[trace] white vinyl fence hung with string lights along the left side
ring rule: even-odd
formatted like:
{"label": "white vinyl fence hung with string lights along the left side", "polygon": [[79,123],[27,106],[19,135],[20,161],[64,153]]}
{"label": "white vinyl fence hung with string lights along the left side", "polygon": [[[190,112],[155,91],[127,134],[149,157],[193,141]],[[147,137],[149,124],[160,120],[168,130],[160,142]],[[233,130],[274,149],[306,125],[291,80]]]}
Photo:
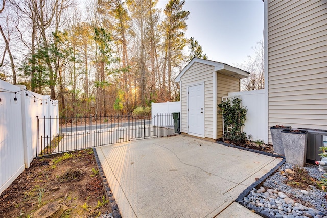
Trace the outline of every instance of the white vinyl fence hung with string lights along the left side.
{"label": "white vinyl fence hung with string lights along the left side", "polygon": [[[36,155],[36,116],[58,117],[58,101],[0,80],[0,193]],[[15,101],[16,100],[16,101]],[[35,102],[34,102],[35,101]],[[49,134],[49,125],[41,134]],[[51,124],[56,125],[56,124]],[[59,132],[59,124],[57,124]]]}

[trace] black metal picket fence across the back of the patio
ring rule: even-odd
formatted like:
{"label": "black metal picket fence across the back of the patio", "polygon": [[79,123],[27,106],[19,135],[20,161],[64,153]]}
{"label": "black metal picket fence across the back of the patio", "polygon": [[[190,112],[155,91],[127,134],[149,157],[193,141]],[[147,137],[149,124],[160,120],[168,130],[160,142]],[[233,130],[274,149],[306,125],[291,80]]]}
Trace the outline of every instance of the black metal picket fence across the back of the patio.
{"label": "black metal picket fence across the back of the patio", "polygon": [[148,118],[131,115],[37,117],[36,156],[177,135],[179,127],[175,123],[172,114]]}

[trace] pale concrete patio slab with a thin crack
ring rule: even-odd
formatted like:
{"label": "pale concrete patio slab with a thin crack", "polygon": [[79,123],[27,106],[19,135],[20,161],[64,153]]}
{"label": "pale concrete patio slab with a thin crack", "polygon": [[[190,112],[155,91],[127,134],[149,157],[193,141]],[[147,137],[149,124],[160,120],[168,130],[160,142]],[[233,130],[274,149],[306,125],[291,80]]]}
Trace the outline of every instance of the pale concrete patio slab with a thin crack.
{"label": "pale concrete patio slab with a thin crack", "polygon": [[182,135],[96,150],[122,217],[260,217],[234,201],[282,161]]}

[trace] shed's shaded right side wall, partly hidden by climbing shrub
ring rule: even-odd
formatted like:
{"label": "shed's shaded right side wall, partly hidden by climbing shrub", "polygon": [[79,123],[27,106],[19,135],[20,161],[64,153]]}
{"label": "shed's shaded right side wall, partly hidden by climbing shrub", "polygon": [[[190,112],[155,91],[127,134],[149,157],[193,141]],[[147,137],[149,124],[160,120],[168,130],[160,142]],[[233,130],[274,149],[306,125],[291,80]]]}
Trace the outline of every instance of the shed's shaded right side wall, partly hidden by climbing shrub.
{"label": "shed's shaded right side wall, partly hidden by climbing shrub", "polygon": [[[228,96],[228,92],[240,91],[240,79],[230,77],[217,72],[217,107],[221,103],[221,98]],[[218,138],[223,136],[223,119],[217,110],[217,131]]]}

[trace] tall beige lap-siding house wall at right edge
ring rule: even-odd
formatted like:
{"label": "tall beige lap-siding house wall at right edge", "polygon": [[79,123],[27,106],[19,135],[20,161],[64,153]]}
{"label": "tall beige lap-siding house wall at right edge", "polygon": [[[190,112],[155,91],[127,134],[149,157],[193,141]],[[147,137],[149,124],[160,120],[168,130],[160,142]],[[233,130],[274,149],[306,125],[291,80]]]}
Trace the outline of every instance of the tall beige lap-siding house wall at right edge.
{"label": "tall beige lap-siding house wall at right edge", "polygon": [[268,126],[276,124],[327,129],[325,0],[268,1]]}

